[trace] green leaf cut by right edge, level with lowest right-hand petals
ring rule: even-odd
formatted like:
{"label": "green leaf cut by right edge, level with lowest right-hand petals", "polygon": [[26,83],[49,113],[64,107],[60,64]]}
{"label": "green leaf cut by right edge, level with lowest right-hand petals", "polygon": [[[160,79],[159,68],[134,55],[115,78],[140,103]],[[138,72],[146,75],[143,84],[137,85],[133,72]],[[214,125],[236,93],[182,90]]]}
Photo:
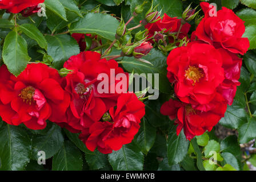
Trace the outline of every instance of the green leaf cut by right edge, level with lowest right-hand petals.
{"label": "green leaf cut by right edge, level with lowest right-hand petals", "polygon": [[247,143],[250,140],[256,138],[256,119],[250,118],[249,122],[243,124],[238,129],[239,143]]}

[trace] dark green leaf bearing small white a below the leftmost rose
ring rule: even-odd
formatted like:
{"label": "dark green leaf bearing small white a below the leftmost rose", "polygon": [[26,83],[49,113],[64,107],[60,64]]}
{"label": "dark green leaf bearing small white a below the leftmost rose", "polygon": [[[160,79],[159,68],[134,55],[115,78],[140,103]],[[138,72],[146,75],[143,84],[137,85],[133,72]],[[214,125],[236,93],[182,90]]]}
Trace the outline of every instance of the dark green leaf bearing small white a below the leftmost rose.
{"label": "dark green leaf bearing small white a below the leftmost rose", "polygon": [[64,142],[61,127],[53,125],[45,135],[34,135],[32,137],[33,159],[38,158],[38,151],[44,151],[46,159],[55,155]]}

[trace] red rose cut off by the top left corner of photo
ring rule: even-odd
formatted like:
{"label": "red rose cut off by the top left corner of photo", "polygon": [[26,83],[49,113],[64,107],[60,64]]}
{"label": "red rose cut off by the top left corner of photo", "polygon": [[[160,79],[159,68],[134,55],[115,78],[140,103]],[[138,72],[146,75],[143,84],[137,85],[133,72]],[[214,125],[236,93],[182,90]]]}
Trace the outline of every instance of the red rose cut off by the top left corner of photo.
{"label": "red rose cut off by the top left corner of photo", "polygon": [[45,0],[1,0],[0,9],[7,9],[11,13],[19,13],[27,7],[38,6]]}

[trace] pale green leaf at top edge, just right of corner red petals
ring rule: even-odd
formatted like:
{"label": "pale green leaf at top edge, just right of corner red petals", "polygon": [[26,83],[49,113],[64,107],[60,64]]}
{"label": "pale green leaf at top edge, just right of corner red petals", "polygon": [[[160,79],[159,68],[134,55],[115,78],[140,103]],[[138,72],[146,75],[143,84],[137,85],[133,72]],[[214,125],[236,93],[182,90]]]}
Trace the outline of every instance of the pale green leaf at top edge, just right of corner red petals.
{"label": "pale green leaf at top edge, just right of corner red petals", "polygon": [[[59,0],[45,0],[44,3],[47,9],[49,9],[54,14],[61,17],[63,20],[67,21],[65,8],[62,5],[62,3],[59,2]],[[47,10],[46,10],[46,14],[47,14]]]}

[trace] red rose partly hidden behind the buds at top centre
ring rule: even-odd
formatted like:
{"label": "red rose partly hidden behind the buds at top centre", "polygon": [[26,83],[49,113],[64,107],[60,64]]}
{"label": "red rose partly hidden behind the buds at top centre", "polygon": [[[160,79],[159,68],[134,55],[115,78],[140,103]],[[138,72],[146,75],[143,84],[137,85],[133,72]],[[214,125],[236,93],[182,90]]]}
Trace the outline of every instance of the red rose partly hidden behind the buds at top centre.
{"label": "red rose partly hidden behind the buds at top centre", "polygon": [[[160,18],[160,17],[158,17],[158,18]],[[157,22],[148,23],[145,26],[145,28],[147,28],[147,30],[149,30],[149,33],[148,33],[149,38],[154,36],[155,32],[163,31],[167,35],[169,35],[168,33],[172,34],[174,32],[178,32],[179,27],[181,27],[181,19],[171,18],[167,14],[165,14],[163,16],[163,18],[159,19]],[[187,33],[189,32],[190,27],[191,26],[189,23],[183,24],[181,31],[179,32],[178,39],[182,40],[183,38],[187,37]],[[170,42],[173,42],[173,36],[169,36],[169,40],[170,40]],[[150,42],[154,43],[152,40],[150,40]]]}

